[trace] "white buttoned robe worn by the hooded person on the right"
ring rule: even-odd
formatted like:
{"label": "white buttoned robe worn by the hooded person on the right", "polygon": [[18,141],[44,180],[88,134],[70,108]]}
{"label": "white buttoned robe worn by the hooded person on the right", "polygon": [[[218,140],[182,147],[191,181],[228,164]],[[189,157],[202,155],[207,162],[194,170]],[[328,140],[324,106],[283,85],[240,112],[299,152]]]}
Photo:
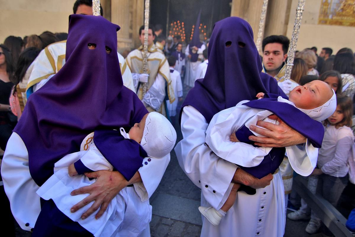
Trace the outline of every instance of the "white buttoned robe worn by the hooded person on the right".
{"label": "white buttoned robe worn by the hooded person on the right", "polygon": [[[182,139],[175,147],[179,165],[191,181],[201,188],[201,205],[220,209],[225,203],[237,166],[215,155],[205,144],[208,123],[192,106],[185,106],[181,117]],[[308,146],[307,141],[307,146]],[[296,146],[292,147],[298,151]],[[205,199],[211,200],[208,203]],[[280,172],[270,185],[256,194],[238,192],[232,208],[218,227],[203,217],[201,236],[281,237],[285,228],[284,189]]]}

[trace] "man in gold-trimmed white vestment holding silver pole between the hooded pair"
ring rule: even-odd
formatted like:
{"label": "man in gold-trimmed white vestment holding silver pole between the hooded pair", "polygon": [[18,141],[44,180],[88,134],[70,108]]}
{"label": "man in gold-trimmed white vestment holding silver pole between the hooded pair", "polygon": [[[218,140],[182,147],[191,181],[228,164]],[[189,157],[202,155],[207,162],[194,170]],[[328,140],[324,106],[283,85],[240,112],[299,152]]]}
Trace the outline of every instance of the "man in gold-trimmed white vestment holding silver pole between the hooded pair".
{"label": "man in gold-trimmed white vestment holding silver pole between the hooded pair", "polygon": [[[143,73],[143,44],[144,26],[139,29],[139,39],[142,45],[127,55],[126,64],[132,71],[133,84],[138,97],[149,112],[157,111],[166,115],[165,111],[165,85],[168,85],[170,103],[175,100],[174,90],[171,85],[169,64],[164,54],[160,53],[153,43],[155,39],[154,28],[148,28],[148,74]],[[143,83],[147,83],[147,92],[143,95]]]}

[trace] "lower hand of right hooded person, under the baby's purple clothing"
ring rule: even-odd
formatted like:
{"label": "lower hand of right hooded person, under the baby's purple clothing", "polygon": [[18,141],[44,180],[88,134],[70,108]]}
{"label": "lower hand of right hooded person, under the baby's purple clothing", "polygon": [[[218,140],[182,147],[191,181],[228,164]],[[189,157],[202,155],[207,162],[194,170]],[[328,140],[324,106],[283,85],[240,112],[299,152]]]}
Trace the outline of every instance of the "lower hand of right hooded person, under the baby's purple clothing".
{"label": "lower hand of right hooded person, under the baby's purple clothing", "polygon": [[267,185],[270,184],[272,179],[273,179],[272,174],[268,174],[267,176],[258,179],[252,176],[251,174],[245,172],[244,170],[237,168],[234,173],[232,182],[241,183],[256,189],[256,188],[265,188]]}

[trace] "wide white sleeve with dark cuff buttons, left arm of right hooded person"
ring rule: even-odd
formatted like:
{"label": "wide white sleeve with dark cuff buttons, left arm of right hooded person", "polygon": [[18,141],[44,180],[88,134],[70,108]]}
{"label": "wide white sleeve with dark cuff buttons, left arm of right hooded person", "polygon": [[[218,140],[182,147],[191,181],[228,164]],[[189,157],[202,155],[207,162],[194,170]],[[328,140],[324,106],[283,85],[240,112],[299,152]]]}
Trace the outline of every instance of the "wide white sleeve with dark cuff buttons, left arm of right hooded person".
{"label": "wide white sleeve with dark cuff buttons, left arm of right hooded person", "polygon": [[230,193],[237,166],[219,158],[206,145],[207,126],[197,109],[185,106],[181,117],[183,139],[176,145],[175,152],[182,170],[218,210]]}

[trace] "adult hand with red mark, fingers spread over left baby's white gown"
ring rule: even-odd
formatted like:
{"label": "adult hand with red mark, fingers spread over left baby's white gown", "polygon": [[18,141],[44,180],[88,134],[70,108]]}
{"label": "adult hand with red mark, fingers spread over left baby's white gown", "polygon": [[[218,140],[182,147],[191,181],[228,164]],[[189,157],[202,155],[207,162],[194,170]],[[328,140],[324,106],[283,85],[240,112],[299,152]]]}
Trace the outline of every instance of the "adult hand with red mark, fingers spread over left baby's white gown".
{"label": "adult hand with red mark, fingers spread over left baby's white gown", "polygon": [[79,203],[75,204],[71,208],[71,212],[76,212],[83,206],[91,203],[92,201],[95,201],[94,204],[81,216],[82,219],[86,219],[89,215],[93,214],[93,212],[97,211],[98,209],[100,210],[97,212],[95,218],[100,218],[108,208],[110,201],[123,188],[125,188],[127,185],[142,181],[138,171],[130,181],[126,181],[126,179],[118,171],[100,170],[96,172],[85,173],[85,176],[88,178],[97,178],[97,181],[89,186],[75,189],[71,192],[71,195],[85,193],[90,194]]}

